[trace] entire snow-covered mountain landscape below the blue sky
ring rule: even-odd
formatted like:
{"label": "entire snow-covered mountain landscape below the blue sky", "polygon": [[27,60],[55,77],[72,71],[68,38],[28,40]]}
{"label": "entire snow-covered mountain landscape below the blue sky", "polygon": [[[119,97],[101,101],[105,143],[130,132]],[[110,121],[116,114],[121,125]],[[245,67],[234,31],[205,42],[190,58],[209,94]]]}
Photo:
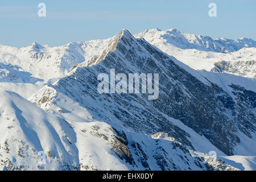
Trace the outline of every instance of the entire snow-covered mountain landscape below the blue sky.
{"label": "entire snow-covered mountain landscape below the blue sky", "polygon": [[[0,46],[0,169],[256,170],[255,46],[176,29]],[[98,93],[110,69],[158,73],[158,99]]]}

